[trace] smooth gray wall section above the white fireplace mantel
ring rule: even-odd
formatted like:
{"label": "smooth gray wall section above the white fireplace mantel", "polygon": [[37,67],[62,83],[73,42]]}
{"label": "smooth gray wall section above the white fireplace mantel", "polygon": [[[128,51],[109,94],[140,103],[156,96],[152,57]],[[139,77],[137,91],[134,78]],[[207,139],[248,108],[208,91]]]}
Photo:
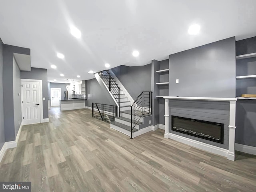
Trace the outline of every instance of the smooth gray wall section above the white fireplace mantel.
{"label": "smooth gray wall section above the white fireplace mantel", "polygon": [[235,54],[232,37],[170,55],[169,96],[234,98]]}

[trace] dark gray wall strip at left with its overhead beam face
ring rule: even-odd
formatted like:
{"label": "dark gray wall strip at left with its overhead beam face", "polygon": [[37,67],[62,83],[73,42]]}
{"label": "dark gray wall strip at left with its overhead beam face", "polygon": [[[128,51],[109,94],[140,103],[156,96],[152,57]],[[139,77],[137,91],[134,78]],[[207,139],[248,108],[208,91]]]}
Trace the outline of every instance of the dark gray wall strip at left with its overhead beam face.
{"label": "dark gray wall strip at left with its overhead beam face", "polygon": [[[30,55],[30,49],[3,44],[3,98],[5,141],[15,140],[14,94],[13,94],[13,54]],[[48,111],[47,111],[48,112]]]}

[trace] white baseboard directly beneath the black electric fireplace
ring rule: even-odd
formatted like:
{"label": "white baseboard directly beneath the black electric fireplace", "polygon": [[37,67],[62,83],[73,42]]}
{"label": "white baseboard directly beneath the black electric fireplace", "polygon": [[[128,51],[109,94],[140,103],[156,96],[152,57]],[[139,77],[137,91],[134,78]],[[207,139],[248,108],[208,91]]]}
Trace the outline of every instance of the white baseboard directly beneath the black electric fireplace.
{"label": "white baseboard directly beneath the black electric fireplace", "polygon": [[216,146],[212,146],[200,141],[196,141],[196,140],[192,140],[186,137],[182,137],[176,134],[172,134],[172,133],[168,133],[168,138],[176,140],[178,142],[182,142],[184,144],[214,153],[214,154],[218,154],[224,157],[228,157],[228,150],[227,149],[223,149],[220,147],[216,147]]}

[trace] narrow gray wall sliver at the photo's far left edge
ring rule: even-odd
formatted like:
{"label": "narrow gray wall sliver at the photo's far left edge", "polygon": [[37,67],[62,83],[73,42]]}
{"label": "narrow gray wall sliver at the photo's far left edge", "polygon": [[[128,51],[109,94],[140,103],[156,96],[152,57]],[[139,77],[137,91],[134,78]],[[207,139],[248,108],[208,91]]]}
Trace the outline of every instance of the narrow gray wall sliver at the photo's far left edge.
{"label": "narrow gray wall sliver at the photo's far left edge", "polygon": [[5,142],[4,137],[4,98],[3,98],[3,42],[0,38],[0,150]]}

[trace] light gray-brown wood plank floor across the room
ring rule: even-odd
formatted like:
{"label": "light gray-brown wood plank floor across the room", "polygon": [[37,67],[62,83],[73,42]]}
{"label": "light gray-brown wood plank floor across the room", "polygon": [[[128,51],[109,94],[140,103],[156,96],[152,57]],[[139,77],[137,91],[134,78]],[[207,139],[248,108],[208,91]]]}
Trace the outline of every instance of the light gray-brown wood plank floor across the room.
{"label": "light gray-brown wood plank floor across the room", "polygon": [[31,181],[33,192],[255,192],[256,156],[232,162],[164,138],[132,140],[88,109],[52,108],[49,123],[23,126],[0,164],[0,181]]}

